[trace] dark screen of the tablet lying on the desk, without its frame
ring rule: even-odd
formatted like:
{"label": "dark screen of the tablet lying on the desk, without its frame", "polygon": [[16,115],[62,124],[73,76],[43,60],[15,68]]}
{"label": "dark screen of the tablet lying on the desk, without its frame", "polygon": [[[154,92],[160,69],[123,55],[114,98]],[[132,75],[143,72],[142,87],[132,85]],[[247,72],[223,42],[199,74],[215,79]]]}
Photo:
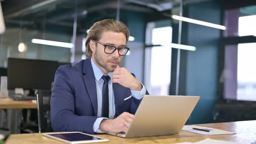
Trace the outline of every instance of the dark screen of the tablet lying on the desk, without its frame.
{"label": "dark screen of the tablet lying on the desk, without its frame", "polygon": [[66,141],[89,141],[89,140],[103,140],[100,137],[93,137],[82,133],[62,133],[62,134],[48,134],[53,137],[58,137]]}

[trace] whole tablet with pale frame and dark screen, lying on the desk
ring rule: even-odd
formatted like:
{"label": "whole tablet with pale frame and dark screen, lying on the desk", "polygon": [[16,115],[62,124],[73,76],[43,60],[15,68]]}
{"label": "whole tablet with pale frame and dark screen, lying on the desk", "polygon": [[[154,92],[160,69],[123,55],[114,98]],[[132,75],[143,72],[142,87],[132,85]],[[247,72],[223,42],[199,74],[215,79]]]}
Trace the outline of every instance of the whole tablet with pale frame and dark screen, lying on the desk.
{"label": "whole tablet with pale frame and dark screen, lying on the desk", "polygon": [[81,144],[81,143],[92,143],[92,142],[103,142],[109,141],[102,137],[96,137],[90,134],[82,132],[58,132],[58,133],[45,133],[42,134],[45,137],[50,137],[58,141],[62,141],[68,144]]}

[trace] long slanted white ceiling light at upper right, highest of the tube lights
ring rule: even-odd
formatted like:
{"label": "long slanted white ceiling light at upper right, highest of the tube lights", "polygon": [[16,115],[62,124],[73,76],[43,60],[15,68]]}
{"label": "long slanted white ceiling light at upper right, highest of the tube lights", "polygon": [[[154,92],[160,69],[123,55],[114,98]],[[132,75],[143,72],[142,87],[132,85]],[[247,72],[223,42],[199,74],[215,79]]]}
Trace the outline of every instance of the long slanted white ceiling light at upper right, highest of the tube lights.
{"label": "long slanted white ceiling light at upper right, highest of the tube lights", "polygon": [[194,19],[190,19],[190,18],[187,18],[187,17],[176,16],[176,15],[172,15],[171,17],[175,20],[181,20],[181,21],[185,21],[185,22],[188,22],[188,23],[195,23],[195,24],[199,24],[199,25],[203,25],[203,26],[213,27],[213,28],[216,28],[216,29],[223,29],[223,30],[226,29],[226,26],[221,26],[221,25],[218,25],[218,24],[208,23],[208,22],[204,22],[204,21],[200,21],[200,20],[194,20]]}

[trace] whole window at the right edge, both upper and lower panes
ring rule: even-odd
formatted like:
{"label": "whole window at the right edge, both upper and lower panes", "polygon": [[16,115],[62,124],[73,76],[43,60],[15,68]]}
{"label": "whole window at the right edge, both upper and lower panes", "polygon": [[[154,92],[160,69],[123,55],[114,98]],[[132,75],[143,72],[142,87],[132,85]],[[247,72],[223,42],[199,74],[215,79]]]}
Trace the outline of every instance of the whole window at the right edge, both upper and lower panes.
{"label": "whole window at the right edge, both upper and lower panes", "polygon": [[[232,17],[233,16],[233,17]],[[256,36],[255,6],[226,10],[227,37]],[[224,43],[225,45],[225,43]],[[256,41],[225,45],[224,99],[256,101]],[[223,79],[224,78],[224,79]]]}

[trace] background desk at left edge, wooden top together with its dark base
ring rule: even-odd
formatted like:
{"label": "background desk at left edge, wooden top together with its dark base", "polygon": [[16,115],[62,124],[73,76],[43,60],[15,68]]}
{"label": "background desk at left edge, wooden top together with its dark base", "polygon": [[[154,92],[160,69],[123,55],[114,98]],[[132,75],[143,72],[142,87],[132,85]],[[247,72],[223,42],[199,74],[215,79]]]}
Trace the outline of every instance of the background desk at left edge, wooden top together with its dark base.
{"label": "background desk at left edge, wooden top together with its dark base", "polygon": [[11,98],[0,99],[0,127],[9,128],[12,134],[20,133],[19,126],[22,109],[36,109],[36,103],[13,101]]}

